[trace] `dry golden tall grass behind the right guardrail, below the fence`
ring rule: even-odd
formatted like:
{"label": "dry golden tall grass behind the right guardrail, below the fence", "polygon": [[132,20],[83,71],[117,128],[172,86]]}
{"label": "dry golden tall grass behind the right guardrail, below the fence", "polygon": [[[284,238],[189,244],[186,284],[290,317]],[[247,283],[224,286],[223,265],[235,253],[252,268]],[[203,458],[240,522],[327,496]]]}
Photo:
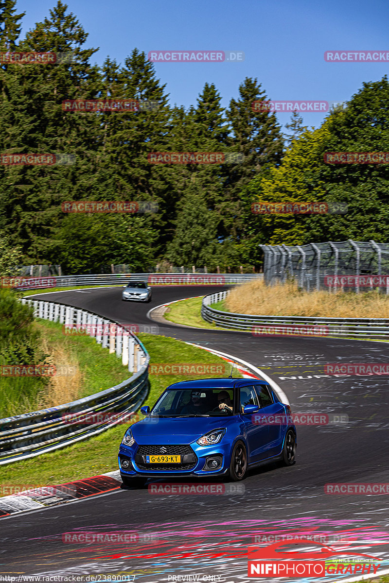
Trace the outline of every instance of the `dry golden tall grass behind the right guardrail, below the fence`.
{"label": "dry golden tall grass behind the right guardrail, below the fence", "polygon": [[376,290],[365,293],[300,291],[295,282],[265,286],[254,281],[232,290],[227,309],[240,314],[272,316],[324,316],[389,318],[389,296]]}

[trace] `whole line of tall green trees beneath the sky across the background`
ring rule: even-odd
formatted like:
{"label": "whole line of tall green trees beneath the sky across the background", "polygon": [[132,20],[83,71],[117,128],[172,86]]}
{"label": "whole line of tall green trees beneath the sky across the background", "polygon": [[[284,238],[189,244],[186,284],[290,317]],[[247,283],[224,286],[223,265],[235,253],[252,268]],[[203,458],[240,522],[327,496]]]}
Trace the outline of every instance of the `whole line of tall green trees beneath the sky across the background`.
{"label": "whole line of tall green trees beneath the sky across the background", "polygon": [[[169,261],[191,269],[261,265],[263,244],[387,241],[387,164],[326,164],[325,152],[384,151],[386,76],[364,83],[320,128],[296,113],[283,134],[257,78],[222,107],[213,83],[196,104],[171,106],[166,85],[134,48],[123,64],[92,65],[96,48],[61,1],[20,38],[16,0],[0,0],[0,52],[72,54],[58,63],[0,61],[0,154],[58,153],[71,163],[0,164],[0,230],[23,264],[61,264],[62,273],[111,264],[148,271]],[[120,113],[65,111],[68,100],[157,104]],[[222,152],[238,162],[155,164],[155,152]],[[4,159],[4,158],[3,158]],[[2,159],[2,160],[3,160]],[[230,156],[230,160],[232,157]],[[138,201],[157,212],[66,213],[66,201]],[[345,215],[255,215],[258,201],[344,202]]]}

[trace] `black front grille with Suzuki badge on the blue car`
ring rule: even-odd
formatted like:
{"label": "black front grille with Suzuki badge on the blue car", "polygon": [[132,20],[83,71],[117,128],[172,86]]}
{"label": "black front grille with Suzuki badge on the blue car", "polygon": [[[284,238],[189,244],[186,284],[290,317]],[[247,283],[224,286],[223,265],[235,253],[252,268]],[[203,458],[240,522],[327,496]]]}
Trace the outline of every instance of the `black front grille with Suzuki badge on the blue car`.
{"label": "black front grille with Suzuki badge on the blue car", "polygon": [[[160,451],[162,447],[166,451]],[[143,457],[146,455],[181,455],[182,463],[174,463],[171,465],[167,463],[146,463]],[[135,454],[135,463],[138,468],[151,472],[160,470],[176,470],[176,472],[190,471],[195,467],[197,462],[197,455],[190,445],[139,445]]]}

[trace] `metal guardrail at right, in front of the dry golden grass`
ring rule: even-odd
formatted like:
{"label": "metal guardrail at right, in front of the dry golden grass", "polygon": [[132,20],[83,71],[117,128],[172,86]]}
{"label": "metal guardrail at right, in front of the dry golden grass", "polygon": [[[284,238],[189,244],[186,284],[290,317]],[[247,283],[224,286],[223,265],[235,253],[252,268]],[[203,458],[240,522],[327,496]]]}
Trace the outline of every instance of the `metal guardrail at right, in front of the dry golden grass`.
{"label": "metal guardrail at right, in front of the dry golden grass", "polygon": [[[234,314],[215,310],[211,305],[225,300],[230,290],[205,296],[201,304],[201,316],[206,322],[212,322],[223,328],[232,328],[254,332],[255,326],[307,325],[328,326],[328,336],[345,336],[348,338],[367,338],[383,340],[389,338],[388,318],[307,318],[304,316],[262,316],[251,314]],[[271,332],[269,331],[269,335]],[[327,333],[325,334],[327,336]],[[312,334],[314,336],[314,334]]]}

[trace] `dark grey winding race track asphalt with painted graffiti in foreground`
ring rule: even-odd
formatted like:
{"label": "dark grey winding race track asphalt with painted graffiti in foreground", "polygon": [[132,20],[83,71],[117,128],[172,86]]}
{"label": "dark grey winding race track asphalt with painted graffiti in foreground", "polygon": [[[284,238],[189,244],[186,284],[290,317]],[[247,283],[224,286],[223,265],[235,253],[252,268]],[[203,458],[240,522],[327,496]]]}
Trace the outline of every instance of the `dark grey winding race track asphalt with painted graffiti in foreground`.
{"label": "dark grey winding race track asphalt with painted graffiti in foreground", "polygon": [[[155,287],[150,304],[121,301],[120,287],[40,297],[123,324],[150,325],[150,308],[219,289],[225,288]],[[120,489],[2,519],[0,573],[96,575],[95,581],[123,573],[140,583],[194,581],[198,575],[199,581],[238,583],[250,581],[247,546],[258,542],[255,536],[303,531],[356,539],[353,548],[383,559],[380,570],[388,568],[388,495],[324,493],[327,483],[389,482],[388,377],[334,377],[324,374],[324,364],[388,363],[389,346],[157,325],[160,334],[254,364],[288,395],[293,413],[347,415],[348,423],[297,427],[296,465],[273,463],[250,472],[243,494],[167,496]],[[62,542],[63,533],[80,531],[131,531],[153,540],[127,545]],[[331,580],[341,579],[326,575],[325,581]]]}

